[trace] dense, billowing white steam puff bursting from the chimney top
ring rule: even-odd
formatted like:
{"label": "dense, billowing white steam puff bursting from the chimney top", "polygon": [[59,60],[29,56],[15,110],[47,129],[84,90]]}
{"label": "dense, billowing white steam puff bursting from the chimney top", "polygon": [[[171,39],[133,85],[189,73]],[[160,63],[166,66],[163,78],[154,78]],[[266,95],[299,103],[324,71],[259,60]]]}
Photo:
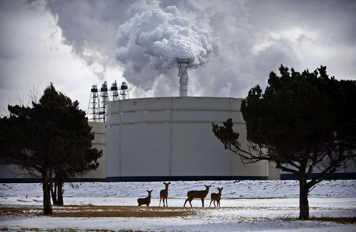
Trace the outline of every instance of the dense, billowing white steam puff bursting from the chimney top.
{"label": "dense, billowing white steam puff bursting from the chimney top", "polygon": [[158,73],[177,67],[177,57],[188,57],[192,68],[205,65],[211,54],[218,55],[219,44],[219,37],[180,16],[176,6],[167,6],[136,14],[119,26],[116,59],[124,64],[124,77],[132,79],[145,66]]}

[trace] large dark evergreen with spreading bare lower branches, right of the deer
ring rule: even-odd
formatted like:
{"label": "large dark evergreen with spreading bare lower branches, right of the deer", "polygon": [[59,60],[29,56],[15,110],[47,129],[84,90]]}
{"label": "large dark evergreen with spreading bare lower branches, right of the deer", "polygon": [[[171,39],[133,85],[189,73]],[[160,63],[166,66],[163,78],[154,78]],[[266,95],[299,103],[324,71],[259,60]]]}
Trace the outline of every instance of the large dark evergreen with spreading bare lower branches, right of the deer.
{"label": "large dark evergreen with spreading bare lower branches, right of the deer", "polygon": [[[247,148],[241,148],[232,119],[223,126],[213,124],[213,133],[244,163],[267,160],[297,175],[299,220],[308,220],[308,192],[356,157],[356,87],[352,81],[329,78],[325,66],[311,73],[288,70],[281,65],[280,77],[269,74],[265,93],[257,85],[242,100]],[[312,177],[315,168],[320,173]]]}

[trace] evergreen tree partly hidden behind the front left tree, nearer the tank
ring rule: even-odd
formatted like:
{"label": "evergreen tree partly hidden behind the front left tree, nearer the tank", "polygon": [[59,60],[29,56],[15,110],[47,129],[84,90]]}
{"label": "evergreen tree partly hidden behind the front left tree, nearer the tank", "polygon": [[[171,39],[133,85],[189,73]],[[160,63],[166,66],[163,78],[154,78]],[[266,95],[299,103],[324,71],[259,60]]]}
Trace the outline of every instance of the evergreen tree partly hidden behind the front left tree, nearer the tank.
{"label": "evergreen tree partly hidden behind the front left tree, nearer the tank", "polygon": [[52,190],[52,200],[57,205],[63,205],[64,181],[96,170],[99,166],[97,160],[103,151],[91,148],[94,132],[91,132],[85,112],[79,110],[78,101],[72,102],[64,94],[56,94],[56,91],[46,96],[49,101],[56,99],[56,104],[49,111],[56,115],[52,121],[61,131],[61,136],[54,138],[51,146],[51,153],[55,157],[52,180],[55,189],[57,187],[57,199],[56,190]]}

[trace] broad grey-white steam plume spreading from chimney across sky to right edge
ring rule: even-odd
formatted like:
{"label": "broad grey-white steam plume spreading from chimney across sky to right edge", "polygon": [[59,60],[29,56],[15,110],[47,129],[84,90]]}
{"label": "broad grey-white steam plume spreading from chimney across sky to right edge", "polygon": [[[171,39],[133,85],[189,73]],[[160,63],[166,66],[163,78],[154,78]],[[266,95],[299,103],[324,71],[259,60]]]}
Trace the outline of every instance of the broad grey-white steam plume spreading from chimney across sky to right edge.
{"label": "broad grey-white steam plume spreading from chimney across sky to right edge", "polygon": [[355,79],[354,1],[37,1],[75,57],[100,80],[123,73],[130,97],[177,96],[176,57],[190,58],[189,96],[244,98],[281,63]]}

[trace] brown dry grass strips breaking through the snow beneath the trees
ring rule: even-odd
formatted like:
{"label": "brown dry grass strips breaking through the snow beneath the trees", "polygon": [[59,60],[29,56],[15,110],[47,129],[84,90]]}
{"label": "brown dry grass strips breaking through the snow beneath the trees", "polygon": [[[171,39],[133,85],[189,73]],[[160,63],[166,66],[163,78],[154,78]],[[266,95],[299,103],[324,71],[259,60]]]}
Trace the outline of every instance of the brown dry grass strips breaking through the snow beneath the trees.
{"label": "brown dry grass strips breaking through the snow beneath the trees", "polygon": [[[246,207],[221,207],[225,210],[243,210]],[[220,208],[220,209],[221,209]],[[263,208],[263,207],[260,207]],[[215,210],[215,207],[146,207],[146,206],[87,206],[87,205],[71,205],[71,206],[54,206],[51,217],[187,217],[198,216],[203,211]],[[248,209],[259,210],[258,207],[250,207]],[[209,213],[208,213],[209,214]],[[33,206],[22,207],[0,207],[1,216],[29,216],[38,217],[44,216],[40,208]],[[240,216],[241,217],[241,216]],[[247,220],[247,219],[246,219]],[[265,218],[267,221],[295,221],[297,217],[292,217],[289,213],[282,217]],[[356,224],[356,217],[331,217],[325,215],[321,217],[310,217],[311,221],[336,222],[344,224]],[[33,229],[33,230],[32,230]],[[36,231],[32,228],[31,231]],[[0,231],[6,231],[6,228],[0,228]]]}

